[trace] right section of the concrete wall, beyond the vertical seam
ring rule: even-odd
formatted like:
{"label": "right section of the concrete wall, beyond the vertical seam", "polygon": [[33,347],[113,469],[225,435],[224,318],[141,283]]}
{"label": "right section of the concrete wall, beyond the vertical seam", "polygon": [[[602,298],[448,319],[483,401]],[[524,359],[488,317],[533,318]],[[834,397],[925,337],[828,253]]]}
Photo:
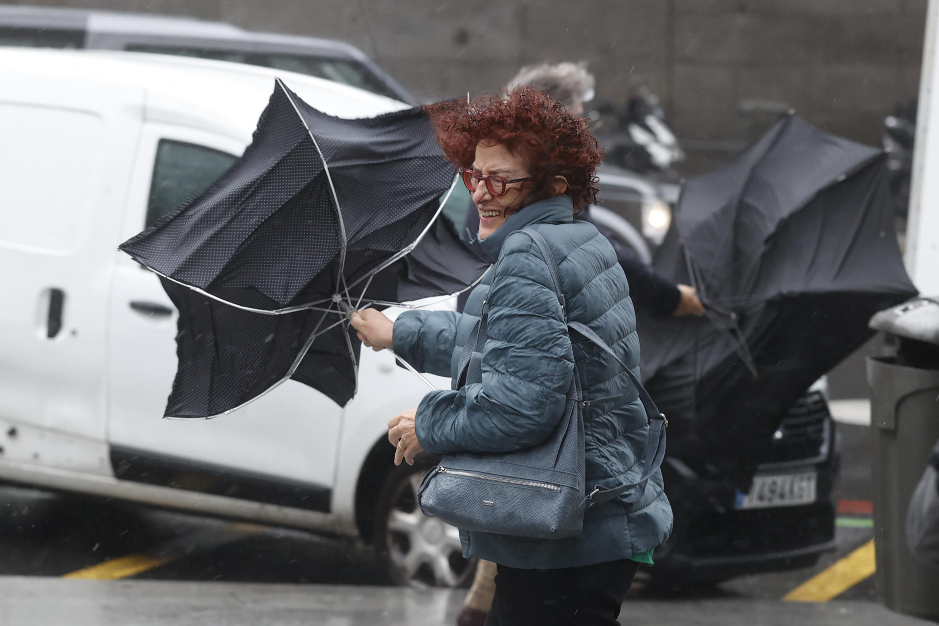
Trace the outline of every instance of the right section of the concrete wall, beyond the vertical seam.
{"label": "right section of the concrete wall, beyond the vertical seam", "polygon": [[[749,141],[785,102],[877,144],[896,102],[916,96],[926,0],[674,0],[672,122],[688,139]],[[757,105],[750,113],[747,104]],[[763,107],[771,109],[771,107]]]}

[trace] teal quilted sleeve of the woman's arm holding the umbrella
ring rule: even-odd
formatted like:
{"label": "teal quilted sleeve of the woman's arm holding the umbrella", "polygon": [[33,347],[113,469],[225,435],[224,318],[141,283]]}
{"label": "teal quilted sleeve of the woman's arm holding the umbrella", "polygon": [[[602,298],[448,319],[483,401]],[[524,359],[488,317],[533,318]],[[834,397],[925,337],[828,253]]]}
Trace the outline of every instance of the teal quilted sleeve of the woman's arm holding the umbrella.
{"label": "teal quilted sleeve of the woman's arm holding the umbrella", "polygon": [[407,311],[394,320],[394,353],[419,372],[450,376],[456,322],[452,311]]}

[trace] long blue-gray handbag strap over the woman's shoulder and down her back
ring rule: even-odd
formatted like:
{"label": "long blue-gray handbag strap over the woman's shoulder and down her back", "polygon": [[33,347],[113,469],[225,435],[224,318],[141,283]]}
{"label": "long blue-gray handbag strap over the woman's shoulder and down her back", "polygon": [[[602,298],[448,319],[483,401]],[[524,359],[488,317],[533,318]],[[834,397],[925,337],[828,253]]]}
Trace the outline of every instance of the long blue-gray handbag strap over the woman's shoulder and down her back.
{"label": "long blue-gray handbag strap over the woman's shoulder and down her back", "polygon": [[[632,504],[639,500],[645,493],[645,484],[652,478],[653,474],[662,466],[662,461],[665,458],[665,443],[666,435],[665,429],[669,425],[669,421],[665,419],[665,415],[658,410],[658,407],[655,406],[655,403],[652,401],[652,397],[649,395],[649,392],[642,387],[642,383],[639,382],[639,378],[636,377],[636,374],[633,374],[633,371],[629,369],[629,366],[623,362],[623,359],[620,359],[619,355],[609,347],[607,342],[603,341],[598,334],[596,334],[592,328],[588,327],[586,324],[580,322],[572,322],[567,319],[567,309],[566,303],[564,301],[564,294],[561,288],[561,276],[558,271],[558,264],[554,259],[554,253],[551,252],[550,246],[548,246],[545,237],[542,237],[541,233],[538,233],[534,230],[521,230],[517,231],[519,233],[524,233],[531,237],[531,240],[538,247],[539,252],[541,252],[542,257],[545,259],[547,269],[551,274],[551,280],[554,282],[555,293],[558,295],[558,300],[561,302],[561,311],[564,315],[564,320],[567,322],[567,328],[575,330],[577,333],[590,340],[594,344],[597,344],[602,350],[608,353],[613,359],[616,360],[620,365],[623,366],[626,374],[629,376],[629,380],[632,381],[633,385],[636,387],[636,390],[639,392],[639,400],[642,402],[642,406],[646,412],[646,419],[649,424],[649,438],[646,442],[645,455],[642,458],[642,474],[639,476],[639,481],[631,484],[623,484],[613,489],[605,489],[600,486],[596,486],[585,499],[584,505],[586,507],[591,507],[594,504],[599,502],[606,502],[611,500],[616,496],[631,490],[636,489],[637,487],[642,487],[639,489],[639,492],[635,496],[631,496],[626,500],[626,504]],[[485,308],[485,307],[484,307]],[[477,340],[479,335],[477,335]]]}

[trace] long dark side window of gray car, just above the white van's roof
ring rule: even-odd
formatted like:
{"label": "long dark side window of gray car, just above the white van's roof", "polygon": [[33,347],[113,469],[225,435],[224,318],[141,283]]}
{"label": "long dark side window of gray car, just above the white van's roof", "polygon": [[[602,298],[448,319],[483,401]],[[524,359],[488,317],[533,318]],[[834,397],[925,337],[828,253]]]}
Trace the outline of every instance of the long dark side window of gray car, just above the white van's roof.
{"label": "long dark side window of gray car, just above the white van's roof", "polygon": [[316,76],[316,78],[325,78],[334,83],[350,84],[353,87],[359,87],[360,89],[371,91],[380,96],[401,99],[389,85],[384,84],[371,70],[362,65],[362,63],[352,59],[315,56],[311,54],[246,52],[241,50],[187,48],[152,44],[128,44],[125,50],[132,53],[194,56],[197,58],[215,59],[217,61],[245,63],[247,65],[261,66],[262,68],[285,69],[287,71],[296,71],[300,74]]}

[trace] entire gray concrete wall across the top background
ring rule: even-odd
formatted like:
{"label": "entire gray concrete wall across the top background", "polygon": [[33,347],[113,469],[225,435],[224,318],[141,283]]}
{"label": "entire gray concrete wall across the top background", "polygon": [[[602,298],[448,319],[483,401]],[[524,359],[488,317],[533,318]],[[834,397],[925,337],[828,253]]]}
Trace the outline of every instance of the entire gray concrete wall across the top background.
{"label": "entire gray concrete wall across the top background", "polygon": [[[343,38],[421,96],[494,90],[527,63],[589,61],[600,99],[647,85],[698,154],[748,141],[780,103],[875,144],[916,95],[927,0],[28,0]],[[750,105],[749,111],[742,110]],[[703,158],[703,159],[702,159]]]}

